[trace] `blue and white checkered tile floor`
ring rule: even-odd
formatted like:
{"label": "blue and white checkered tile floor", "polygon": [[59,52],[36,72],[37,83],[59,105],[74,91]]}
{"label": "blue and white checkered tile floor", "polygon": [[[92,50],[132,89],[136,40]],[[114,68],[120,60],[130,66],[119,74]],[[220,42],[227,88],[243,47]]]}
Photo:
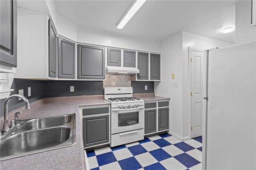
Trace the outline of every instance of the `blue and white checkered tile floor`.
{"label": "blue and white checkered tile floor", "polygon": [[165,133],[86,154],[92,170],[202,170],[202,137],[182,142]]}

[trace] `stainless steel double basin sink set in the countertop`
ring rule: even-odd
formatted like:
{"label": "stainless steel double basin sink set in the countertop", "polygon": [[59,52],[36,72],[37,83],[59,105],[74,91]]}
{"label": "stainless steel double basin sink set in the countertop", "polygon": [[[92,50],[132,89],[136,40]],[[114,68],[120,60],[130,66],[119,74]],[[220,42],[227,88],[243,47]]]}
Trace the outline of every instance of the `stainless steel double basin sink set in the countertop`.
{"label": "stainless steel double basin sink set in the countertop", "polygon": [[0,160],[69,147],[76,143],[76,114],[20,119],[0,139]]}

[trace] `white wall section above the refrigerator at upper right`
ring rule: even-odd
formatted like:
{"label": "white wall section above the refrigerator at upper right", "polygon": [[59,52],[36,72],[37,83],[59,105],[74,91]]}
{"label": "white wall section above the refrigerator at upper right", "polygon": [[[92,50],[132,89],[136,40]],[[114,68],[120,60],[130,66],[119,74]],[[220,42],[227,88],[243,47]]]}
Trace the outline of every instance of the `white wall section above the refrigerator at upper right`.
{"label": "white wall section above the refrigerator at upper right", "polygon": [[251,1],[236,4],[236,44],[256,40],[256,27],[251,24]]}

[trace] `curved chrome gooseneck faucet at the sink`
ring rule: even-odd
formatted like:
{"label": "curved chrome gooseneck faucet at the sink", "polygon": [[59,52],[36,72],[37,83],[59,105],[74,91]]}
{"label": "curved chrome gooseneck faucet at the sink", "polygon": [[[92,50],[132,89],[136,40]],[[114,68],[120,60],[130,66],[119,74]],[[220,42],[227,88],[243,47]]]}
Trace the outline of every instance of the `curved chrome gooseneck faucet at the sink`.
{"label": "curved chrome gooseneck faucet at the sink", "polygon": [[10,127],[8,125],[8,103],[9,103],[10,99],[13,97],[21,98],[26,104],[25,109],[30,109],[30,104],[28,102],[28,99],[25,98],[24,96],[21,96],[19,94],[14,94],[14,95],[8,97],[4,102],[4,125],[3,125],[3,129],[1,131],[2,133],[6,133],[10,130]]}

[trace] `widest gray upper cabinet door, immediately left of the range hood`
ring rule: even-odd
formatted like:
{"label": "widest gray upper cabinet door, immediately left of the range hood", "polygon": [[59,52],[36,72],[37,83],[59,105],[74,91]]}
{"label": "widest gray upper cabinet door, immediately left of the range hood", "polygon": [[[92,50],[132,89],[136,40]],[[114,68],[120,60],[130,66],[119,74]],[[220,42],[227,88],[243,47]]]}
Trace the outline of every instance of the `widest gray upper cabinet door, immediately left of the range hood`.
{"label": "widest gray upper cabinet door, immediately left of the range hood", "polygon": [[78,78],[105,78],[105,48],[78,44]]}

